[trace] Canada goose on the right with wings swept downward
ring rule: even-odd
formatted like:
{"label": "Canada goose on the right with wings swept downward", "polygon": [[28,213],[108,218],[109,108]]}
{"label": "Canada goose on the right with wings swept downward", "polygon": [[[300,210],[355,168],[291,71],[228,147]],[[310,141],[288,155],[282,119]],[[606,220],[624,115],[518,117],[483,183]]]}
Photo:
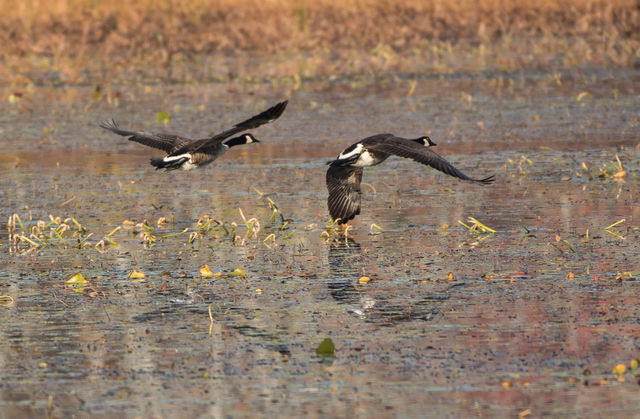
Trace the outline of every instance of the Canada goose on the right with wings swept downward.
{"label": "Canada goose on the right with wings swept downward", "polygon": [[360,214],[360,183],[364,167],[375,166],[390,156],[406,157],[431,166],[462,180],[488,184],[494,176],[473,179],[456,169],[430,147],[435,143],[427,136],[407,139],[393,134],[377,134],[347,147],[337,159],[327,162],[327,189],[329,213],[339,224],[344,224]]}

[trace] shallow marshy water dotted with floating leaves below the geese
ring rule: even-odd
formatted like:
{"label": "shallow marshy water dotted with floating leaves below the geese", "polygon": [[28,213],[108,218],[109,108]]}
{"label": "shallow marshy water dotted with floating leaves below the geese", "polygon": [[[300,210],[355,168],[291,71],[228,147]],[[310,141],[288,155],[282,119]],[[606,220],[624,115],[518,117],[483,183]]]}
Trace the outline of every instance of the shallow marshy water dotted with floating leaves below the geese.
{"label": "shallow marshy water dotted with floating leaves below the geese", "polygon": [[[0,114],[0,294],[14,300],[0,307],[0,411],[634,414],[639,81],[591,71],[295,91],[3,88],[2,98],[21,96]],[[152,150],[97,128],[114,117],[163,130],[164,111],[167,130],[198,136],[284,96],[283,117],[254,132],[261,144],[187,173],[157,172]],[[388,131],[429,134],[467,174],[498,180],[469,185],[390,159],[365,172],[371,186],[348,237],[327,235],[324,161]],[[616,155],[627,177],[598,177]],[[280,214],[269,222],[266,197],[286,225]],[[260,223],[255,236],[239,209]],[[73,217],[91,236],[82,249],[68,236],[66,246],[16,248],[4,226],[14,213],[23,223]],[[229,232],[189,243],[205,214]],[[158,226],[161,217],[173,223]],[[468,217],[496,232],[468,231]],[[144,220],[157,241],[140,235]],[[118,226],[117,245],[96,249]],[[220,276],[203,278],[205,264]],[[230,275],[238,267],[246,277]],[[145,278],[128,278],[132,269]],[[74,290],[65,280],[77,272],[89,283]],[[335,355],[320,357],[327,337]]]}

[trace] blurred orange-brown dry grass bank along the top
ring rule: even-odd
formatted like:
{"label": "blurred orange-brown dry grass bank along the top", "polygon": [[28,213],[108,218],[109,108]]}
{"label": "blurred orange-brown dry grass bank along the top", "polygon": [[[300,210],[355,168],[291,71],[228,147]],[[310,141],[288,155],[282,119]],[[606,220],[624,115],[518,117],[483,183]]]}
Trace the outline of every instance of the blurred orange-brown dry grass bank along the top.
{"label": "blurred orange-brown dry grass bank along the top", "polygon": [[[93,77],[134,72],[183,78],[194,73],[186,70],[193,63],[215,67],[193,76],[205,79],[226,77],[225,72],[414,71],[424,63],[428,70],[447,71],[454,64],[446,56],[456,53],[465,55],[457,60],[463,67],[469,59],[479,68],[499,59],[499,69],[535,63],[543,55],[552,60],[554,54],[562,55],[565,66],[630,66],[640,59],[637,0],[337,3],[0,0],[0,75],[19,81],[21,66],[50,66],[67,80],[86,71]],[[213,56],[240,61],[208,62]],[[258,64],[247,56],[257,57]]]}

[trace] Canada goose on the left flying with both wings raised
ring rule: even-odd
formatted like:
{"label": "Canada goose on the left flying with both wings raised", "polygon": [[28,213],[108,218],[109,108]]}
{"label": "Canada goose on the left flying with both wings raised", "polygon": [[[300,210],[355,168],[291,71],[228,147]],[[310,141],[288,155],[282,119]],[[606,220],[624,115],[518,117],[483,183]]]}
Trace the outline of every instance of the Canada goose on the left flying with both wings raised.
{"label": "Canada goose on the left flying with both wings raised", "polygon": [[153,134],[144,131],[125,131],[121,130],[113,119],[111,121],[101,122],[100,127],[118,135],[122,135],[123,137],[129,137],[129,141],[135,141],[166,152],[167,155],[163,158],[154,157],[151,159],[151,164],[155,166],[156,169],[191,170],[211,163],[233,146],[260,142],[252,134],[243,134],[229,140],[227,140],[227,138],[231,137],[233,134],[257,128],[260,125],[267,124],[277,119],[282,115],[282,112],[284,112],[284,109],[287,107],[287,103],[288,101],[286,100],[284,102],[280,102],[266,111],[234,125],[232,128],[223,131],[220,134],[209,138],[203,138],[201,140],[192,140],[190,138],[174,134]]}

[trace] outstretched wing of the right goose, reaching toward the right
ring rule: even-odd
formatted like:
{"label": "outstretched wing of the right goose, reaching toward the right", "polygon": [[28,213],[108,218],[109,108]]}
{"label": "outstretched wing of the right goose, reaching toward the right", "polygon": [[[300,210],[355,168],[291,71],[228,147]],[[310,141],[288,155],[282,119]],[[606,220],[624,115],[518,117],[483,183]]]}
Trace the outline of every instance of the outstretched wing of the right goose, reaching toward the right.
{"label": "outstretched wing of the right goose, reaching toward the right", "polygon": [[431,166],[442,173],[446,173],[449,176],[457,177],[462,180],[484,184],[491,183],[495,180],[493,175],[484,179],[474,179],[469,177],[456,169],[455,166],[445,160],[438,153],[432,151],[430,148],[406,138],[388,136],[385,137],[383,141],[374,141],[366,144],[365,147],[368,150],[379,151],[415,160],[418,163]]}

